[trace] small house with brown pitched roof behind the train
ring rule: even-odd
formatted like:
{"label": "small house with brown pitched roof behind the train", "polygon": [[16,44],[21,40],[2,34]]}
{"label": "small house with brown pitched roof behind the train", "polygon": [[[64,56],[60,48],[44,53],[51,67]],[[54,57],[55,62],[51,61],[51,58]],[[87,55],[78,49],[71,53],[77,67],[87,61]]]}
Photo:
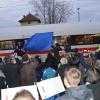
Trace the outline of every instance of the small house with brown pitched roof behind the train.
{"label": "small house with brown pitched roof behind the train", "polygon": [[22,26],[27,26],[27,25],[37,25],[41,23],[40,19],[29,13],[28,15],[24,15],[21,20],[19,20],[19,23]]}

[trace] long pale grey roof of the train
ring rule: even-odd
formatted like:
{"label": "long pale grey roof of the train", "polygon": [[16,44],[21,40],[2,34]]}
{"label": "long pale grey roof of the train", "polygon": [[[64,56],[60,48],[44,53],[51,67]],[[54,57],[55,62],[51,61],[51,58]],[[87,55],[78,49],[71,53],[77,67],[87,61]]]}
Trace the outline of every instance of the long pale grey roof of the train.
{"label": "long pale grey roof of the train", "polygon": [[60,23],[0,29],[0,40],[29,38],[35,33],[53,32],[54,36],[100,33],[100,23]]}

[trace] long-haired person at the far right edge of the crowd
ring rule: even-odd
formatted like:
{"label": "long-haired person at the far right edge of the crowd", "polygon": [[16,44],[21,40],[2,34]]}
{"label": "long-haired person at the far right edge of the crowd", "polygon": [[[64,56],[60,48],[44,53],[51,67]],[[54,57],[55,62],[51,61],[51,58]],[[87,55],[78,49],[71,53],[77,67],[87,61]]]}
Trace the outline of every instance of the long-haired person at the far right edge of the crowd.
{"label": "long-haired person at the far right edge of the crowd", "polygon": [[92,56],[91,59],[92,68],[90,68],[86,73],[86,81],[88,88],[93,90],[93,95],[95,100],[100,100],[100,59]]}

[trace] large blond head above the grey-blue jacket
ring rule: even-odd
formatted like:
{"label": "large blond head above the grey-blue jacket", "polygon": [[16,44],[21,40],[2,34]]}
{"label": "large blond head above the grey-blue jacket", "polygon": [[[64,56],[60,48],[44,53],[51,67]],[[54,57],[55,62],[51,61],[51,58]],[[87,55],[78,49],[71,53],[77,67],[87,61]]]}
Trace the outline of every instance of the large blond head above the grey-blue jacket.
{"label": "large blond head above the grey-blue jacket", "polygon": [[80,83],[81,72],[76,67],[65,69],[64,71],[64,84],[67,88],[76,87]]}

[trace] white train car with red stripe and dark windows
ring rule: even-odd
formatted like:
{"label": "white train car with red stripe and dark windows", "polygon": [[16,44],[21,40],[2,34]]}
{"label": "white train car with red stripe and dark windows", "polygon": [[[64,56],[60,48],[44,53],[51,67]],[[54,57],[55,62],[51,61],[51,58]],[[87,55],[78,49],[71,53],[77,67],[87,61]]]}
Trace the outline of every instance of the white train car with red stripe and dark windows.
{"label": "white train car with red stripe and dark windows", "polygon": [[[53,32],[53,42],[70,45],[79,50],[95,51],[100,44],[100,23],[60,23],[20,26],[0,29],[0,56],[11,54],[16,45],[22,47],[36,33]],[[45,52],[28,52],[47,54]]]}

